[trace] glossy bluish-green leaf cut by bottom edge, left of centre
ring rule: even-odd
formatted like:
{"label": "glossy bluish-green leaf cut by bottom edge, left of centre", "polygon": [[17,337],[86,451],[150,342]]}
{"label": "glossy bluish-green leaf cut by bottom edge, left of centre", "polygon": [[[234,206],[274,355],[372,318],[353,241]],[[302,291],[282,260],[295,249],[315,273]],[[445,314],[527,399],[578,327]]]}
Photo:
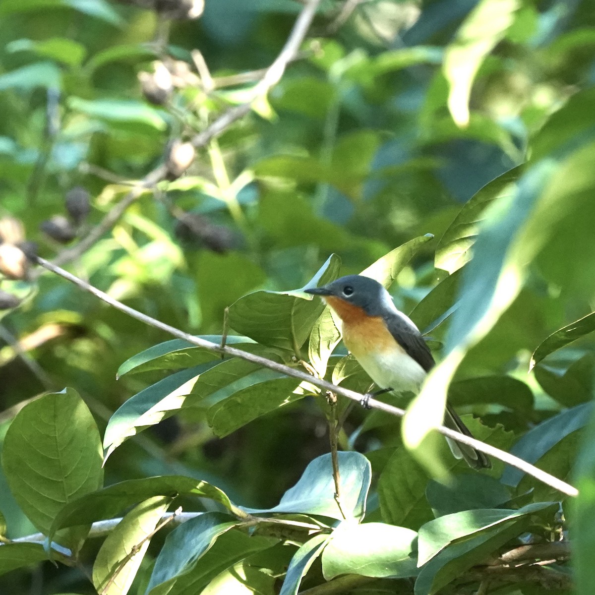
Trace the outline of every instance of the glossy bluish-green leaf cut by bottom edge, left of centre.
{"label": "glossy bluish-green leaf cut by bottom edge, left of centre", "polygon": [[192,571],[215,540],[240,521],[221,512],[205,512],[176,527],[165,539],[145,595],[165,595],[177,577]]}

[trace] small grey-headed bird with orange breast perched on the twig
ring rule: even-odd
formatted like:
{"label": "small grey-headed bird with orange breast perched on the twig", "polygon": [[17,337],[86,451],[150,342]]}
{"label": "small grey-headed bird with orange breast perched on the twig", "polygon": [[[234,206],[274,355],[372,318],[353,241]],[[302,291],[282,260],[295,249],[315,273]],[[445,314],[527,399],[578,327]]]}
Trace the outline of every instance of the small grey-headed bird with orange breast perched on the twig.
{"label": "small grey-headed bird with orange breast perched on the twig", "polygon": [[[403,312],[394,306],[390,293],[369,277],[347,275],[322,287],[306,289],[321,296],[341,320],[343,343],[381,392],[419,392],[434,358],[424,337]],[[365,404],[365,403],[364,403]],[[444,425],[471,436],[450,405]],[[450,450],[474,469],[490,468],[484,453],[447,438]]]}

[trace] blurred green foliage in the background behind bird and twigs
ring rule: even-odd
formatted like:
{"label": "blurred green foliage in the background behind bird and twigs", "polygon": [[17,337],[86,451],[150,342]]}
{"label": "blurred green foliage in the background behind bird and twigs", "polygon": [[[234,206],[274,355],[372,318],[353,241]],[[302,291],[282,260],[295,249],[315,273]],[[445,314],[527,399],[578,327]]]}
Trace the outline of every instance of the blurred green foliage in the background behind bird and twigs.
{"label": "blurred green foliage in the background behind bird and twigs", "polygon": [[[292,0],[206,0],[201,18],[170,22],[107,0],[0,0],[0,215],[18,218],[45,258],[76,245],[131,180],[164,155],[174,159],[172,142],[248,98],[301,8]],[[302,287],[331,252],[343,274],[358,273],[431,233],[393,286],[397,307],[409,313],[447,278],[442,269],[456,270],[438,255],[435,267],[434,253],[464,203],[593,127],[594,46],[589,0],[324,1],[268,101],[199,149],[183,177],[143,193],[71,270],[168,324],[219,334],[226,306],[254,290]],[[465,99],[466,87],[468,114],[452,99],[453,89]],[[561,169],[556,184],[570,186],[578,171],[593,186],[589,151],[585,167]],[[518,297],[466,355],[459,393],[453,389],[462,412],[521,435],[591,398],[587,332],[527,374],[550,333],[593,311],[595,205],[585,204],[560,214],[558,234]],[[448,277],[436,318],[452,304],[459,276]],[[115,373],[167,340],[161,331],[50,274],[3,280],[0,289],[23,300],[0,311],[0,437],[21,403],[64,386],[82,394],[102,430],[121,403],[159,378]],[[444,327],[431,333],[436,345]],[[503,375],[518,381],[508,400],[495,399],[490,386]],[[460,388],[466,381],[476,383],[473,399]],[[354,434],[364,418],[354,411],[347,419],[352,446],[398,443],[392,420]],[[106,483],[180,472],[237,502],[270,506],[328,451],[326,434],[311,400],[224,439],[204,421],[170,418],[111,456]],[[574,453],[577,440],[567,446]],[[386,462],[371,460],[378,469]],[[567,475],[570,463],[562,467]],[[8,537],[34,531],[2,477],[0,509]],[[15,572],[0,578],[0,590],[80,588],[72,572]]]}

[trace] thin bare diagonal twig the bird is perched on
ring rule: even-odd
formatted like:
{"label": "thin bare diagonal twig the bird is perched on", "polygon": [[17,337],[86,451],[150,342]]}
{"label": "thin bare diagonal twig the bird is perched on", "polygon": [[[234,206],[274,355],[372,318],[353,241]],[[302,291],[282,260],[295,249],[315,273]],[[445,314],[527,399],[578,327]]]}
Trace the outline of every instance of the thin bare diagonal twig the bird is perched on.
{"label": "thin bare diagonal twig the bird is perched on", "polygon": [[[274,362],[267,358],[263,358],[262,356],[256,355],[255,353],[248,353],[242,351],[241,349],[236,349],[235,347],[230,346],[221,347],[221,345],[217,345],[217,343],[212,343],[205,339],[201,339],[200,337],[195,337],[189,333],[184,333],[184,331],[181,331],[179,328],[171,327],[170,325],[165,324],[164,322],[155,320],[155,318],[151,318],[150,316],[142,314],[142,312],[139,312],[134,308],[130,308],[130,306],[126,306],[123,303],[118,302],[118,300],[107,295],[107,293],[102,292],[101,290],[97,289],[96,287],[93,287],[86,281],[83,281],[79,277],[76,277],[75,275],[68,273],[68,271],[65,271],[57,265],[52,264],[51,262],[46,261],[43,258],[40,258],[39,256],[33,257],[33,260],[37,262],[37,264],[46,268],[47,270],[52,271],[52,273],[56,273],[61,277],[67,279],[68,281],[71,281],[71,283],[74,283],[77,287],[80,287],[84,291],[92,293],[96,297],[99,297],[99,299],[103,300],[111,306],[114,306],[114,308],[117,308],[121,312],[124,312],[125,314],[128,314],[131,317],[136,318],[136,320],[144,322],[145,324],[151,325],[154,328],[158,328],[159,330],[165,331],[165,333],[169,333],[174,337],[184,339],[187,342],[192,343],[192,345],[203,347],[204,349],[207,349],[209,351],[224,353],[226,355],[231,355],[237,358],[245,359],[246,361],[253,362],[254,364],[259,364],[269,369],[273,369],[277,372],[281,372],[281,374],[285,374],[293,378],[298,378],[299,380],[306,381],[310,384],[314,384],[315,386],[318,386],[323,390],[327,390],[335,394],[340,394],[341,396],[346,397],[347,399],[351,399],[357,402],[361,402],[361,400],[365,396],[361,393],[355,392],[354,390],[345,389],[343,387],[336,386],[336,384],[332,384],[310,374],[306,374],[306,372],[303,372],[300,369],[292,368],[283,364],[278,364],[277,362]],[[369,399],[367,399],[367,403],[371,408],[386,411],[387,413],[391,415],[396,415],[397,417],[403,417],[403,415],[405,415],[405,411],[403,409],[399,409],[392,405],[388,405],[387,403],[383,403],[372,397],[369,397]],[[527,473],[528,475],[535,477],[537,480],[541,481],[547,486],[553,487],[555,490],[558,490],[563,494],[567,494],[568,496],[578,495],[577,488],[571,486],[565,481],[559,480],[557,477],[554,477],[553,475],[550,475],[549,473],[546,473],[541,469],[538,469],[536,466],[531,465],[527,461],[523,461],[522,459],[519,459],[518,457],[511,455],[510,453],[505,452],[504,450],[500,450],[495,446],[491,446],[491,444],[486,444],[481,440],[476,440],[470,436],[465,436],[464,434],[461,434],[454,430],[450,430],[450,428],[446,428],[444,426],[439,426],[436,428],[436,430],[439,431],[441,434],[444,434],[444,436],[452,438],[453,440],[456,440],[462,444],[468,444],[468,446],[472,446],[475,449],[486,453],[486,455],[493,456],[494,458],[500,459],[500,461],[503,461],[508,465],[515,467],[516,469],[520,469],[524,473]]]}

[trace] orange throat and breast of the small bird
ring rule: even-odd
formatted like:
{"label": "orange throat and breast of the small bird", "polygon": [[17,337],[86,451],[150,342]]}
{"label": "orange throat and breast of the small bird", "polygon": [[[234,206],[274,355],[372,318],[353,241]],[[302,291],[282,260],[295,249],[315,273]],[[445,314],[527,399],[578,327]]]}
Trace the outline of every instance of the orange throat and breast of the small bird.
{"label": "orange throat and breast of the small bird", "polygon": [[343,343],[356,358],[371,352],[403,351],[380,316],[368,316],[364,309],[339,297],[328,296],[325,300],[339,315]]}

